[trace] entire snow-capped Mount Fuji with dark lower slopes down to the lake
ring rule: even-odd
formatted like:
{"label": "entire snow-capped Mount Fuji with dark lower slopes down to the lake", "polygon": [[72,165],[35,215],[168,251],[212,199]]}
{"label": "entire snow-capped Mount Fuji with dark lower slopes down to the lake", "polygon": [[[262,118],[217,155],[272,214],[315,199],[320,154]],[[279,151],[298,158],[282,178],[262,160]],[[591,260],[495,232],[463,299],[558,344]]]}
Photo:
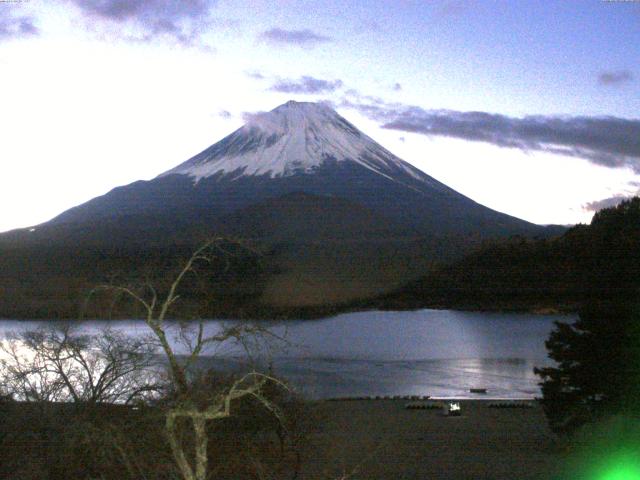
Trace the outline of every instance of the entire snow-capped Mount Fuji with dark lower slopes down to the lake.
{"label": "entire snow-capped Mount Fuji with dark lower slopes down to the lake", "polygon": [[[248,274],[238,280],[246,312],[249,297],[254,306],[285,309],[368,298],[485,239],[553,233],[447,187],[328,105],[291,101],[252,115],[152,180],[0,235],[5,287],[28,302],[42,299],[37,311],[0,300],[0,315],[52,315],[51,298],[82,298],[113,271],[139,277],[152,269],[147,260],[161,271],[176,249],[183,254],[212,235],[256,242],[266,252],[260,282]],[[65,304],[56,312],[72,310]]]}

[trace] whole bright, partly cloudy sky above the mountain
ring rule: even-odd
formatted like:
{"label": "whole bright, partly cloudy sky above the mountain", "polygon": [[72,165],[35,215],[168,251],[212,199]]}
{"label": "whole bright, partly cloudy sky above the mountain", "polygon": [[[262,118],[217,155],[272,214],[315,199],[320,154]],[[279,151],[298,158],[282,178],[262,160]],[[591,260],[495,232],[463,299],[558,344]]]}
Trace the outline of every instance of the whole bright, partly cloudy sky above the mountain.
{"label": "whole bright, partly cloudy sky above the mountain", "polygon": [[640,193],[640,1],[2,0],[0,231],[330,102],[540,224]]}

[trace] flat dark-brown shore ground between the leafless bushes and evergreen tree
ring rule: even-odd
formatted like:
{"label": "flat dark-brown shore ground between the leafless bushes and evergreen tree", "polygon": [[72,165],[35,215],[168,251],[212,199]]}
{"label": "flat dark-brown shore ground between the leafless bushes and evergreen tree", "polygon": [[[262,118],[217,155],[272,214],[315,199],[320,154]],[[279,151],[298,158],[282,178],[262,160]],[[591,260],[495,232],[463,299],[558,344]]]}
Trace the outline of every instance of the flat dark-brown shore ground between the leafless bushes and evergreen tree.
{"label": "flat dark-brown shore ground between the leafless bushes and evergreen tree", "polygon": [[304,462],[309,479],[549,479],[560,461],[544,414],[462,401],[462,416],[408,410],[404,400],[319,403],[323,428]]}

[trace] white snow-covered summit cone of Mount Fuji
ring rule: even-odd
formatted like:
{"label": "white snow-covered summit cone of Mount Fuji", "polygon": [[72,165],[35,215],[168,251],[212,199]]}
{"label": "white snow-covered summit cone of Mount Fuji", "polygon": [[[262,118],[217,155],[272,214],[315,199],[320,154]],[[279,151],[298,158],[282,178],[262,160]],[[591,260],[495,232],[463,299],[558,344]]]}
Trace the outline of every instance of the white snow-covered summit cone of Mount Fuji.
{"label": "white snow-covered summit cone of Mount Fuji", "polygon": [[[396,181],[433,179],[360,132],[324,103],[289,101],[248,122],[205,151],[163,173],[195,182],[214,175],[286,177],[313,173],[327,161],[355,162]],[[437,185],[438,187],[440,185]]]}

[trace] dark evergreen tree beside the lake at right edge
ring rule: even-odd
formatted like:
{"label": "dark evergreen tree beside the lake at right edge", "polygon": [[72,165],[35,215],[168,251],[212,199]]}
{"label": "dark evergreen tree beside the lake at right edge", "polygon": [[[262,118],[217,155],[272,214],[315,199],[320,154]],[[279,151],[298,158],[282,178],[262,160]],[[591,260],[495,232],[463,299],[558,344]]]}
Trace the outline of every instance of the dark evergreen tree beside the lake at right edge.
{"label": "dark evergreen tree beside the lake at right edge", "polygon": [[546,342],[557,367],[536,369],[542,405],[556,433],[605,415],[640,414],[640,309],[628,295],[594,300]]}

